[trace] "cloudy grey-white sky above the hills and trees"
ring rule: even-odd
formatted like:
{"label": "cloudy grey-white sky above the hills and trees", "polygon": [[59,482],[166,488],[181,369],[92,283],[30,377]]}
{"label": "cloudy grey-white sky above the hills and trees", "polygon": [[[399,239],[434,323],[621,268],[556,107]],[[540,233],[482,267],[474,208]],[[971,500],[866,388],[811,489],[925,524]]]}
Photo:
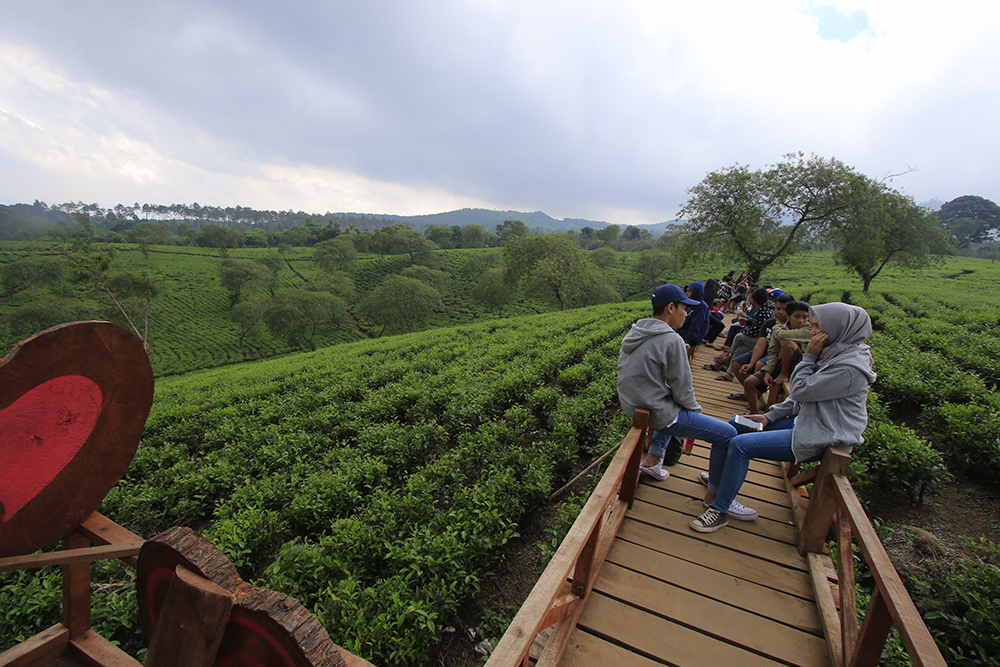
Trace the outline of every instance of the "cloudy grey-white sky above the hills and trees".
{"label": "cloudy grey-white sky above the hills and trees", "polygon": [[4,0],[0,203],[670,220],[836,157],[1000,201],[1000,3]]}

